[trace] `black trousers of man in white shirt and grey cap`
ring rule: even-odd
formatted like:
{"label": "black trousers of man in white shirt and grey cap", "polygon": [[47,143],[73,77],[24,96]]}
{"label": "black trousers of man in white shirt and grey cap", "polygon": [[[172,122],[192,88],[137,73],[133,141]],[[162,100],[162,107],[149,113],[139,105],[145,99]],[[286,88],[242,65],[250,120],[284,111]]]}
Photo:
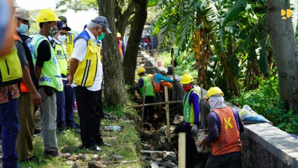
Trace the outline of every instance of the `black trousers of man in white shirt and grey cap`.
{"label": "black trousers of man in white shirt and grey cap", "polygon": [[100,118],[103,113],[101,90],[90,91],[86,87],[74,87],[80,136],[84,148],[90,148],[102,141]]}

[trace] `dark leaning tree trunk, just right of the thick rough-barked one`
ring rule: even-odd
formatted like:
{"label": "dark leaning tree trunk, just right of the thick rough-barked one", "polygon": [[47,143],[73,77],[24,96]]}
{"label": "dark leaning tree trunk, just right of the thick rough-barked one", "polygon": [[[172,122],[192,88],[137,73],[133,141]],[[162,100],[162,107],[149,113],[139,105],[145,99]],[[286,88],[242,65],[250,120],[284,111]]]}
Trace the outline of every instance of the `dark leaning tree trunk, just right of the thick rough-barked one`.
{"label": "dark leaning tree trunk, just right of the thick rough-barked one", "polygon": [[130,85],[133,85],[135,82],[135,69],[137,66],[139,43],[147,19],[147,0],[134,1],[136,12],[131,24],[129,39],[123,59],[125,83]]}

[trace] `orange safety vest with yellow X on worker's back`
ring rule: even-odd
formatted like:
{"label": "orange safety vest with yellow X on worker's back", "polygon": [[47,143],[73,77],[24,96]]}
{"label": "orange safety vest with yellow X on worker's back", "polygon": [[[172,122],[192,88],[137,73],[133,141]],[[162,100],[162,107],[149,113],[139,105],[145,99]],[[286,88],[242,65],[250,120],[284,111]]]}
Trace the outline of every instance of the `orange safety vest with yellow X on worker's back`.
{"label": "orange safety vest with yellow X on worker's back", "polygon": [[218,140],[213,142],[212,155],[218,156],[241,151],[240,132],[233,110],[230,107],[213,110],[221,120],[222,130]]}

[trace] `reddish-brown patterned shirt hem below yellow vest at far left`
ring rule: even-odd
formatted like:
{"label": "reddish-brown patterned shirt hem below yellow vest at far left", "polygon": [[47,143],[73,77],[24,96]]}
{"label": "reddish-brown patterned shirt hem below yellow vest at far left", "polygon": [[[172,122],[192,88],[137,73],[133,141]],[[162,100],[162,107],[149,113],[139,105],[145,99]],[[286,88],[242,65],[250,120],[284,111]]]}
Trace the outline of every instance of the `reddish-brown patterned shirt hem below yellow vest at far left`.
{"label": "reddish-brown patterned shirt hem below yellow vest at far left", "polygon": [[12,98],[18,98],[20,96],[17,84],[0,86],[0,104],[8,102],[8,91],[11,91]]}

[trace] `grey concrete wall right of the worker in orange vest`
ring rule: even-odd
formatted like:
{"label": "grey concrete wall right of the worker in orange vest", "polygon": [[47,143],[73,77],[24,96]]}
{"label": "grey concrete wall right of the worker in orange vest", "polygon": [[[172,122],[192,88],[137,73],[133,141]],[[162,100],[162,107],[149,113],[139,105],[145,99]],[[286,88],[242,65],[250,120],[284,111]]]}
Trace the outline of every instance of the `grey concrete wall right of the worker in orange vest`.
{"label": "grey concrete wall right of the worker in orange vest", "polygon": [[298,140],[268,124],[245,125],[243,168],[298,168]]}

